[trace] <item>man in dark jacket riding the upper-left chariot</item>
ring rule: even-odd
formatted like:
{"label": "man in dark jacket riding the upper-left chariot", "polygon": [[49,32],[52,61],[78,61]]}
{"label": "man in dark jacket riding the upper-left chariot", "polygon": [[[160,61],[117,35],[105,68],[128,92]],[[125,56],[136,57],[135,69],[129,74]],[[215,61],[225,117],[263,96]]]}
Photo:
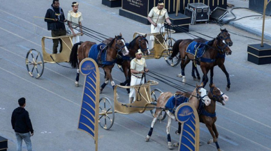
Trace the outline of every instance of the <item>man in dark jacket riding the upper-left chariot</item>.
{"label": "man in dark jacket riding the upper-left chariot", "polygon": [[[48,31],[52,31],[52,37],[66,35],[64,22],[67,22],[67,19],[65,19],[62,8],[59,7],[59,0],[52,1],[51,8],[47,9],[44,21],[47,22]],[[59,42],[60,53],[62,51],[61,39],[53,39],[52,42],[54,42],[54,45],[52,47],[52,54],[57,54],[57,47],[59,45]]]}

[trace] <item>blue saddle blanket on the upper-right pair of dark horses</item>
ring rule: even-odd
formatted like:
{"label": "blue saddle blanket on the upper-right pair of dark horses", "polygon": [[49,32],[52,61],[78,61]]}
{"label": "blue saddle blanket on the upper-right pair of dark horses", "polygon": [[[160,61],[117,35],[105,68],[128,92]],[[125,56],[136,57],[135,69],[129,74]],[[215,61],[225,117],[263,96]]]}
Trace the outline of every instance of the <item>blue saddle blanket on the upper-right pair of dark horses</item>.
{"label": "blue saddle blanket on the upper-right pair of dark horses", "polygon": [[[189,53],[189,54],[193,54],[193,56],[195,56],[196,54],[196,58],[201,58],[205,52],[205,46],[207,45],[207,42],[205,43],[198,43],[198,42],[191,42],[189,44],[189,46],[187,47],[186,49],[186,52]],[[200,46],[200,47],[198,47]],[[198,51],[196,53],[196,48],[198,47]]]}

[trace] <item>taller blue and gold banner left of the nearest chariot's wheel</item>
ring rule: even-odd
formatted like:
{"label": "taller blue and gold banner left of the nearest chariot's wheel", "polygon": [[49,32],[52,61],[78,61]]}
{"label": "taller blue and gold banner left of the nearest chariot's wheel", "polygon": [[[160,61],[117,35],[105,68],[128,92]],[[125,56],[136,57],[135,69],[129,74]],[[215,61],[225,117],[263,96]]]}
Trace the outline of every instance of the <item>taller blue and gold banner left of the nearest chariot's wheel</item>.
{"label": "taller blue and gold banner left of the nearest chariot's wheel", "polygon": [[89,134],[97,144],[100,72],[92,58],[85,58],[80,63],[80,72],[86,77],[78,129]]}

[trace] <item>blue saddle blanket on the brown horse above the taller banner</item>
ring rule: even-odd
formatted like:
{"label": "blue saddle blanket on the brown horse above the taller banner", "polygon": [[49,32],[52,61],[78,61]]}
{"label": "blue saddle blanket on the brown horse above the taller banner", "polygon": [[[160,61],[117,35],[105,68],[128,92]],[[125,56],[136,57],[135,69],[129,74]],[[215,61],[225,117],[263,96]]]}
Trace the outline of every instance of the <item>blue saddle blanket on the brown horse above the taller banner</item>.
{"label": "blue saddle blanket on the brown horse above the taller banner", "polygon": [[[116,61],[106,61],[107,49],[106,45],[101,43],[98,45],[93,45],[89,50],[89,58],[93,58],[96,63],[101,65],[113,65]],[[98,54],[101,52],[101,49],[105,49],[101,54],[101,62],[98,62]]]}

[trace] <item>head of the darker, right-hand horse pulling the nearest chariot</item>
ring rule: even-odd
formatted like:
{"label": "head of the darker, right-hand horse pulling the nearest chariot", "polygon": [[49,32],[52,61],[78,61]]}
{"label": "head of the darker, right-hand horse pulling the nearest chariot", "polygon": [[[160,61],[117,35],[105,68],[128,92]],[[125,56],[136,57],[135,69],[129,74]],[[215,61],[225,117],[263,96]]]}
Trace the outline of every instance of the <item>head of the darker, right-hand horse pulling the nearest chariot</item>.
{"label": "head of the darker, right-hand horse pulling the nearest chariot", "polygon": [[214,101],[220,102],[222,105],[225,105],[226,102],[228,101],[228,96],[225,95],[219,88],[214,86],[210,86],[210,96],[212,95],[212,99]]}

